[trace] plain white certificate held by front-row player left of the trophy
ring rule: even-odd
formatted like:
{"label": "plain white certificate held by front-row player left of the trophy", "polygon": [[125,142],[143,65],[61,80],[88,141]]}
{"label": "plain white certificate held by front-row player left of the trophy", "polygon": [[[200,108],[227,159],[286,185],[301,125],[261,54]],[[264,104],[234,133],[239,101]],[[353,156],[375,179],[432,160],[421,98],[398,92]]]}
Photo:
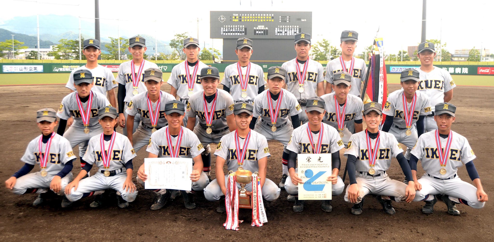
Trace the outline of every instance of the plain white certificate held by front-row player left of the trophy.
{"label": "plain white certificate held by front-row player left of the trophy", "polygon": [[191,158],[144,158],[144,188],[190,191],[192,171]]}

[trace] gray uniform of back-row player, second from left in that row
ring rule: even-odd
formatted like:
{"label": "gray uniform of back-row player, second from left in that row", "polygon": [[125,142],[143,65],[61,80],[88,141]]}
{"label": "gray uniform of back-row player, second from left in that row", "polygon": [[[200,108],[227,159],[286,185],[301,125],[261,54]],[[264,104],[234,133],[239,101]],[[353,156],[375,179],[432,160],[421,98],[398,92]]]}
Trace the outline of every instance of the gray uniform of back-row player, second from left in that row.
{"label": "gray uniform of back-row player, second from left in that row", "polygon": [[[142,68],[142,75],[140,77],[140,81],[139,81],[139,88],[138,88],[138,91],[139,93],[142,93],[142,92],[146,92],[148,89],[146,88],[146,85],[144,84],[144,70],[145,69],[149,69],[149,68],[158,68],[158,65],[150,62],[150,61],[144,61],[144,67]],[[130,65],[132,65],[132,61],[126,61],[122,64],[120,64],[120,69],[119,69],[119,72],[117,74],[117,82],[122,84],[122,85],[125,85],[125,99],[124,99],[124,102],[125,102],[125,106],[128,106],[128,104],[130,103],[130,101],[132,100],[132,97],[134,97],[134,94],[132,93],[134,91],[134,88],[133,88],[133,84],[132,84],[132,78],[134,75],[136,75],[137,73],[131,73],[131,68],[130,68]],[[139,66],[135,66],[134,65],[134,69],[135,71],[139,71]],[[127,120],[127,113],[124,112],[124,116],[125,116],[125,122]],[[141,115],[137,114],[135,117],[134,117],[134,130],[133,132],[135,132],[135,130],[137,129],[137,127],[139,126],[139,122],[141,121]],[[123,132],[124,136],[127,136],[127,129],[124,129],[124,132]]]}

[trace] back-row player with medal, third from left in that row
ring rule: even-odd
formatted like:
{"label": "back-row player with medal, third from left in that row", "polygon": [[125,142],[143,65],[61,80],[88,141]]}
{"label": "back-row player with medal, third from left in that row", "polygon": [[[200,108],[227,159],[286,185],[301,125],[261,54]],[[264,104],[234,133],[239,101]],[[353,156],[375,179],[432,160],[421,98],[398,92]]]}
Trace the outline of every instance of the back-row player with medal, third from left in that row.
{"label": "back-row player with medal, third from left in that row", "polygon": [[[199,39],[197,38],[184,38],[183,52],[186,54],[187,60],[176,65],[171,69],[171,75],[168,78],[168,83],[171,86],[170,94],[173,97],[180,99],[180,102],[185,105],[188,104],[189,98],[193,93],[203,90],[201,85],[201,69],[208,66],[198,59],[199,51]],[[187,127],[187,115],[183,118],[183,126]]]}

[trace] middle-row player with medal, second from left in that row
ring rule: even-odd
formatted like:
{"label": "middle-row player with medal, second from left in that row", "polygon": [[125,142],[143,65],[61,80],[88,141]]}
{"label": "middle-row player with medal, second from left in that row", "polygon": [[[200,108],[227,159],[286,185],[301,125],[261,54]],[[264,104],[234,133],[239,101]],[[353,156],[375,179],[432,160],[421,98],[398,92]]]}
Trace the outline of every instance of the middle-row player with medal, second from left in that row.
{"label": "middle-row player with medal, second from left in that row", "polygon": [[[175,100],[173,96],[161,91],[163,85],[163,72],[160,69],[150,68],[144,70],[144,83],[147,92],[142,92],[134,97],[127,107],[127,137],[138,152],[144,145],[149,143],[151,134],[167,125],[165,119],[165,104]],[[139,127],[132,134],[134,129],[134,117],[140,114],[141,122]]]}

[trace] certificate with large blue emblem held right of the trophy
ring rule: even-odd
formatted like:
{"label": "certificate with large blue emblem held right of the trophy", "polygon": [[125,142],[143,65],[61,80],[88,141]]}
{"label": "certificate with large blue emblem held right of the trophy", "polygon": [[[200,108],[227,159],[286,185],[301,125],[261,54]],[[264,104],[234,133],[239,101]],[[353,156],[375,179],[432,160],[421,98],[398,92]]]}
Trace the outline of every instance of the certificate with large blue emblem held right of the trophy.
{"label": "certificate with large blue emblem held right of the trophy", "polygon": [[331,200],[331,154],[298,154],[298,199]]}

